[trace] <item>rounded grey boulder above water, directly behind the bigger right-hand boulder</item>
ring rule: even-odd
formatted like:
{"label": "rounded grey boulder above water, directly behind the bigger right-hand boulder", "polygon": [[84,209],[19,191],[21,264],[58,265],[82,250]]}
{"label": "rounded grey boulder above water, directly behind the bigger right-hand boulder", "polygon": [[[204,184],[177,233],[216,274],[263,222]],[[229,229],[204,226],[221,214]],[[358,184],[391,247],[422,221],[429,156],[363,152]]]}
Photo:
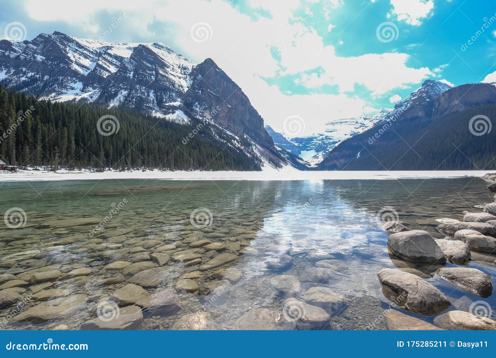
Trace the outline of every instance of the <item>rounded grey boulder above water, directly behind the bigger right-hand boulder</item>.
{"label": "rounded grey boulder above water, directly behind the bigger right-hand boulder", "polygon": [[415,263],[444,263],[446,257],[434,241],[423,230],[411,230],[389,235],[387,247],[395,258]]}

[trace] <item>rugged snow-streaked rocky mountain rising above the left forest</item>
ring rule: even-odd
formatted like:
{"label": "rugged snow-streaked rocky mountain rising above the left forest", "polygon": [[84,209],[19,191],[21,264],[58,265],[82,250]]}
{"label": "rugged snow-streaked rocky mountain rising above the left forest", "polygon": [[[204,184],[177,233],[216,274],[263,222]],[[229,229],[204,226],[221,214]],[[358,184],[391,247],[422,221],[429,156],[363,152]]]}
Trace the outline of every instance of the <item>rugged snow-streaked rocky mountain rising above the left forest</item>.
{"label": "rugged snow-streaked rocky mountain rising above the left forest", "polygon": [[113,44],[61,32],[0,41],[0,83],[55,101],[129,108],[199,124],[262,166],[290,163],[241,88],[207,58],[196,64],[160,43]]}

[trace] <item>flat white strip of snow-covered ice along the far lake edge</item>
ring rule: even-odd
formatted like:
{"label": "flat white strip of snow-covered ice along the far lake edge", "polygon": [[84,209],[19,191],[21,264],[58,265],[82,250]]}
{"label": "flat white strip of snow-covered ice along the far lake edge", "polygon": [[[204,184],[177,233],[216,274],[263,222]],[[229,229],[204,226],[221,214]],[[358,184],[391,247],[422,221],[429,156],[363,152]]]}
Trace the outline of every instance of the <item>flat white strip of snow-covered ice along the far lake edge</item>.
{"label": "flat white strip of snow-covered ice along the far lake edge", "polygon": [[0,182],[7,181],[59,181],[106,179],[157,179],[157,180],[391,180],[406,178],[457,178],[482,177],[494,170],[453,171],[300,171],[291,167],[263,171],[68,171],[19,170],[16,173],[0,172]]}

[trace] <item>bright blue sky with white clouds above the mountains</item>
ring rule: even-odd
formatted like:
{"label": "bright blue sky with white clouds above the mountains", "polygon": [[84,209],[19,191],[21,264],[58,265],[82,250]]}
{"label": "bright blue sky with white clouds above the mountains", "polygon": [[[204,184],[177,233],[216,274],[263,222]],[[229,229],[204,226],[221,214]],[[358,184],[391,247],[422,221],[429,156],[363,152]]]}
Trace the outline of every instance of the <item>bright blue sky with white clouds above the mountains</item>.
{"label": "bright blue sky with white clouds above the mountains", "polygon": [[211,57],[279,131],[291,115],[311,134],[392,107],[428,78],[496,81],[494,0],[2,1],[0,37],[12,22],[28,40],[62,31]]}

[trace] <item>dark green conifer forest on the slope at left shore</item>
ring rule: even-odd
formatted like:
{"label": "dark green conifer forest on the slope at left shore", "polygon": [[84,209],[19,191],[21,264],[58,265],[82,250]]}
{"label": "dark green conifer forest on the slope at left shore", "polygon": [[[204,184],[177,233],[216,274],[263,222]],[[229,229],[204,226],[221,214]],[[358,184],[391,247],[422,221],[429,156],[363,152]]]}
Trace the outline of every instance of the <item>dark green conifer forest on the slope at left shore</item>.
{"label": "dark green conifer forest on the slope at left shore", "polygon": [[[101,135],[113,115],[119,131]],[[66,169],[260,170],[246,153],[210,140],[207,126],[177,124],[124,110],[50,102],[0,85],[0,159],[19,167]],[[183,143],[183,138],[188,141]]]}

